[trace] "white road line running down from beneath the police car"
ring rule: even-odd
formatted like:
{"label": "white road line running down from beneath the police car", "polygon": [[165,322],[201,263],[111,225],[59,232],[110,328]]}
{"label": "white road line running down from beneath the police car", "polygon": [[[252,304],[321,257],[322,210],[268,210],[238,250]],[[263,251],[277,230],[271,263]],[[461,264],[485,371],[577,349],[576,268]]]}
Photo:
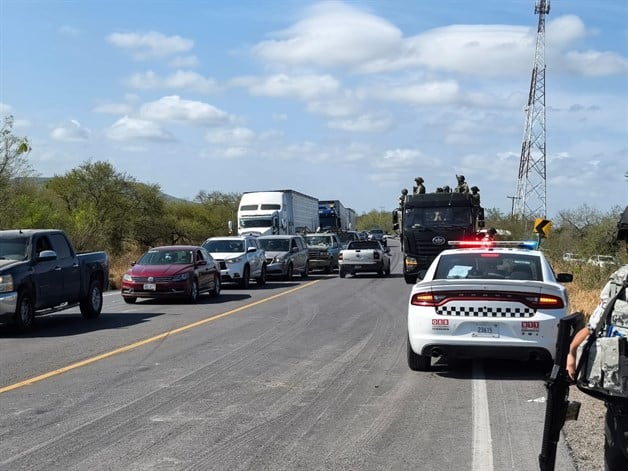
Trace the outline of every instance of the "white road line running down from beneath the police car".
{"label": "white road line running down from beneath the police car", "polygon": [[493,471],[493,439],[488,413],[488,398],[484,370],[478,361],[473,362],[473,471]]}

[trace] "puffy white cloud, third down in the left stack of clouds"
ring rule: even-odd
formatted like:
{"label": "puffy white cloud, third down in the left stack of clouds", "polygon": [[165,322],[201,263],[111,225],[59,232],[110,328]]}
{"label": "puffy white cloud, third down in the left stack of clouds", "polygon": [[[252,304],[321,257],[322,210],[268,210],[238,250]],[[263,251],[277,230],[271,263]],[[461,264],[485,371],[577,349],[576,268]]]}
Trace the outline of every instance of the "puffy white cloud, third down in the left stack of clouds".
{"label": "puffy white cloud, third down in the left stack of clouds", "polygon": [[227,113],[212,105],[200,101],[183,100],[177,95],[165,96],[142,105],[140,117],[201,126],[227,124],[232,121]]}

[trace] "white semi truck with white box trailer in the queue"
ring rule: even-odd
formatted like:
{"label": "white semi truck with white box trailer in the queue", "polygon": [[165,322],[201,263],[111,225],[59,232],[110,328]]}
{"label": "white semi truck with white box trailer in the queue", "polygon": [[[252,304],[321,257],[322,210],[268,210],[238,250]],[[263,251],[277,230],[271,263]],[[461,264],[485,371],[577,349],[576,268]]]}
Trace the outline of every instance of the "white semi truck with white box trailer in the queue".
{"label": "white semi truck with white box trailer in the queue", "polygon": [[238,206],[238,234],[315,232],[318,199],[294,190],[250,191]]}

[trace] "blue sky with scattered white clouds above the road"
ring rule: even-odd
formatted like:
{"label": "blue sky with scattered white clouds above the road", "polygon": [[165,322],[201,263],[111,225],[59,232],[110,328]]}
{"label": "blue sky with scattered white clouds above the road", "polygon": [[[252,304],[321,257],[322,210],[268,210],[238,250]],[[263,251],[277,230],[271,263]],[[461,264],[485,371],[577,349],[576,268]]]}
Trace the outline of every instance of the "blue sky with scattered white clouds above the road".
{"label": "blue sky with scattered white clouds above the road", "polygon": [[[106,161],[178,198],[293,189],[363,214],[464,175],[510,214],[534,7],[0,0],[0,116],[42,177]],[[551,0],[544,45],[539,216],[623,207],[628,1]]]}

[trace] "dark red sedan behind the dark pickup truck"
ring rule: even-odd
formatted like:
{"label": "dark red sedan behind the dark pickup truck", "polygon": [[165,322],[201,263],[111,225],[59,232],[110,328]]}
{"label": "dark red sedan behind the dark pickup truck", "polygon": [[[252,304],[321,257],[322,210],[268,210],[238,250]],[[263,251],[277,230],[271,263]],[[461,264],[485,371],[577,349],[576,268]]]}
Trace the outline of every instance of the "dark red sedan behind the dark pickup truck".
{"label": "dark red sedan behind the dark pickup truck", "polygon": [[154,247],[122,277],[121,294],[129,304],[137,298],[184,298],[195,303],[203,293],[220,294],[220,267],[196,245]]}

